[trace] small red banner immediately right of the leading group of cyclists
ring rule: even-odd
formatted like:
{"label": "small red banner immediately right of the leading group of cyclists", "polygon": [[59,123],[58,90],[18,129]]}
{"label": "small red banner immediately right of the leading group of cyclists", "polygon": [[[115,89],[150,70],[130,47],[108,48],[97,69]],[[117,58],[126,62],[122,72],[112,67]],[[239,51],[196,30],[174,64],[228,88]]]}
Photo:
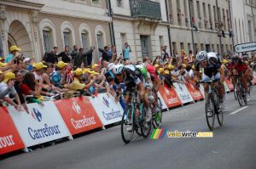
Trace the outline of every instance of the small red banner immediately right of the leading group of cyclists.
{"label": "small red banner immediately right of the leading group of cyclists", "polygon": [[160,87],[159,92],[168,108],[182,104],[182,101],[178,98],[174,87],[171,89],[165,84],[165,87]]}

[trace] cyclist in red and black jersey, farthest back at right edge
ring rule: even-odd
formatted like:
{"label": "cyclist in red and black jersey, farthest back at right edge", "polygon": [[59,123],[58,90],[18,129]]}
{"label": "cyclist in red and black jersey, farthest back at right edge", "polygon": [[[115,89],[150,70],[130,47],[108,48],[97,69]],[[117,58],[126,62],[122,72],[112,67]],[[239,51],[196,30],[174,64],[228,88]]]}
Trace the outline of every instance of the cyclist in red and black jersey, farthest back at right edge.
{"label": "cyclist in red and black jersey, farthest back at right edge", "polygon": [[250,96],[246,79],[246,76],[249,76],[249,69],[247,68],[247,65],[244,63],[244,61],[237,55],[233,56],[231,59],[229,74],[232,82],[236,82],[236,76],[234,75],[243,75],[241,76],[241,82],[243,83],[246,90],[247,101],[249,101]]}

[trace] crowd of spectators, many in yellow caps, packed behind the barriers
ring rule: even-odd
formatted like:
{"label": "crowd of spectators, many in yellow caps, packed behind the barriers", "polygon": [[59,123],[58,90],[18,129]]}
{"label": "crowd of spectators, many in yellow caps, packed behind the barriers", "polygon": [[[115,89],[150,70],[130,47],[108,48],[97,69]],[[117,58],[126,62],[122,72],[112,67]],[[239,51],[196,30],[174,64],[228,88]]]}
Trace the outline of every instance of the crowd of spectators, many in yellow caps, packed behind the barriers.
{"label": "crowd of spectators, many in yellow caps, packed behind the barriers", "polygon": [[[214,47],[212,47],[212,50]],[[131,47],[125,42],[123,54],[117,54],[115,46],[98,48],[102,57],[92,64],[94,47],[84,52],[84,48],[68,47],[58,54],[58,48],[44,55],[35,63],[35,57],[25,58],[21,49],[12,46],[7,59],[0,58],[0,104],[5,101],[16,110],[27,111],[26,104],[38,103],[44,105],[45,98],[62,99],[72,97],[74,93],[96,97],[98,93],[107,92],[119,101],[113,86],[119,84],[113,75],[115,65],[154,65],[161,79],[161,85],[173,87],[173,82],[189,83],[195,77],[195,55],[187,54],[183,49],[179,54],[173,50],[173,56],[167,53],[167,46],[160,48],[160,55],[154,60],[143,57],[143,60],[132,62]],[[198,52],[198,49],[195,53]],[[61,58],[61,60],[59,60]],[[247,65],[255,69],[255,55],[248,57]],[[218,54],[219,63],[227,72],[230,56]]]}

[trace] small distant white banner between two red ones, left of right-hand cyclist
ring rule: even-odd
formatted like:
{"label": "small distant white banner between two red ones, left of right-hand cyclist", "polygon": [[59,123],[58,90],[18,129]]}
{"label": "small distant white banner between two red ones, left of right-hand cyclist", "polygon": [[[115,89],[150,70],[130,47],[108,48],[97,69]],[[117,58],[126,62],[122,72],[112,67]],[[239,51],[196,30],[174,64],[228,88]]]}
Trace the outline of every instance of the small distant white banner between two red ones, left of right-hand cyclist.
{"label": "small distant white banner between two red ones, left of right-hand cyclist", "polygon": [[183,83],[174,82],[173,86],[175,87],[175,91],[177,96],[182,101],[183,104],[187,104],[189,102],[193,102],[194,99],[191,97],[188,88]]}

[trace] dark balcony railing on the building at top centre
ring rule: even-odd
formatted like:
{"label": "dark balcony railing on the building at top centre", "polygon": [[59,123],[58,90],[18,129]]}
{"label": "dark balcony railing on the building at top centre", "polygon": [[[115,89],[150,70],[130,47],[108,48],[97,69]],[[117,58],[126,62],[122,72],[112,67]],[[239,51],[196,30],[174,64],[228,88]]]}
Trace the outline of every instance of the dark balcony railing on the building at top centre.
{"label": "dark balcony railing on the building at top centre", "polygon": [[161,19],[160,3],[149,0],[130,0],[131,16]]}

